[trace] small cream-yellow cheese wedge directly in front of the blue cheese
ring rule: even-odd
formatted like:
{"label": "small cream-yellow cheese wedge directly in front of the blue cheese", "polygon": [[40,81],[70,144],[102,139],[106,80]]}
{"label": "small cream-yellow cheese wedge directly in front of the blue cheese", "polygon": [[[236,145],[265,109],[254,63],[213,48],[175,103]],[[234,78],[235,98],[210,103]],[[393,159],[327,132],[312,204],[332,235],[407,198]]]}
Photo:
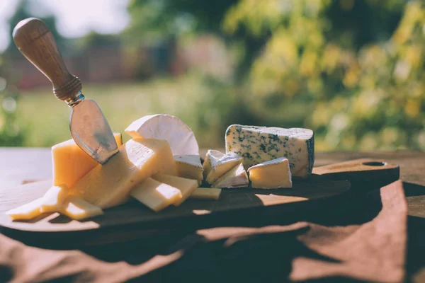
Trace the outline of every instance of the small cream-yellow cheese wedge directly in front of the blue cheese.
{"label": "small cream-yellow cheese wedge directly in front of the blue cheese", "polygon": [[248,169],[248,173],[252,187],[257,189],[292,187],[289,161],[285,157],[252,166]]}

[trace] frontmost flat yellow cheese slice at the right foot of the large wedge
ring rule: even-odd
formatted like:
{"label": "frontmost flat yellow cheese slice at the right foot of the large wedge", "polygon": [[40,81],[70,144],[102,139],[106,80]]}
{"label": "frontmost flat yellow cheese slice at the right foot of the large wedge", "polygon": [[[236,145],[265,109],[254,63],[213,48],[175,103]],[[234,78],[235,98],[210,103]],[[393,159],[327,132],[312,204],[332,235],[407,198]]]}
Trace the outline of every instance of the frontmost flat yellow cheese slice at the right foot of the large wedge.
{"label": "frontmost flat yellow cheese slice at the right foot of the large wedge", "polygon": [[137,185],[130,195],[155,212],[168,207],[170,204],[181,200],[181,192],[176,187],[167,185],[152,178],[147,178]]}

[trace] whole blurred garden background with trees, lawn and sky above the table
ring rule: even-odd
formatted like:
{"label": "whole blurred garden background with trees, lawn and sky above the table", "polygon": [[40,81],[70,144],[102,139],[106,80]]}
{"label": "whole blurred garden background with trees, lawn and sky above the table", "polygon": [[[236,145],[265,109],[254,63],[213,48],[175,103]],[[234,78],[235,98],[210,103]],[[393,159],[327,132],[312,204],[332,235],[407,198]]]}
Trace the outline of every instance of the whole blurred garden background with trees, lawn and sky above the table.
{"label": "whole blurred garden background with trees, lawn and sky above the table", "polygon": [[0,146],[70,138],[69,108],[11,40],[30,16],[114,131],[162,112],[202,147],[239,123],[309,127],[319,151],[425,149],[424,1],[1,1]]}

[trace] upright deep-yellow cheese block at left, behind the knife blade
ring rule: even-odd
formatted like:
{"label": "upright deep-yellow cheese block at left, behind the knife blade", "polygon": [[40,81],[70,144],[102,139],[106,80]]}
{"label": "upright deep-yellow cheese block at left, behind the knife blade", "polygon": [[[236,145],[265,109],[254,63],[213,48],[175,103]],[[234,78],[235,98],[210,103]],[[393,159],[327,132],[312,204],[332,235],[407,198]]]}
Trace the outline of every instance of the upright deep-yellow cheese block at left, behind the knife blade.
{"label": "upright deep-yellow cheese block at left, behind the knife blade", "polygon": [[[113,133],[118,146],[123,144],[120,133]],[[53,185],[72,187],[77,180],[98,163],[75,143],[74,139],[52,146]]]}

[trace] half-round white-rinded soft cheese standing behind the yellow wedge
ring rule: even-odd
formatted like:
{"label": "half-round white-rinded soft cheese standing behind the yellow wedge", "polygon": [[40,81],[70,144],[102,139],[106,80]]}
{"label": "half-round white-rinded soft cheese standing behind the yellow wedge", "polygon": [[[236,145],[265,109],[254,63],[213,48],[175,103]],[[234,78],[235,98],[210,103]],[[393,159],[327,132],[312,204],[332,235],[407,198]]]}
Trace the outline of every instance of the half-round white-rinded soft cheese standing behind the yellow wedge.
{"label": "half-round white-rinded soft cheese standing behind the yellow wedge", "polygon": [[131,137],[165,139],[173,155],[199,155],[198,141],[191,128],[178,117],[155,114],[141,117],[132,122],[125,132]]}

